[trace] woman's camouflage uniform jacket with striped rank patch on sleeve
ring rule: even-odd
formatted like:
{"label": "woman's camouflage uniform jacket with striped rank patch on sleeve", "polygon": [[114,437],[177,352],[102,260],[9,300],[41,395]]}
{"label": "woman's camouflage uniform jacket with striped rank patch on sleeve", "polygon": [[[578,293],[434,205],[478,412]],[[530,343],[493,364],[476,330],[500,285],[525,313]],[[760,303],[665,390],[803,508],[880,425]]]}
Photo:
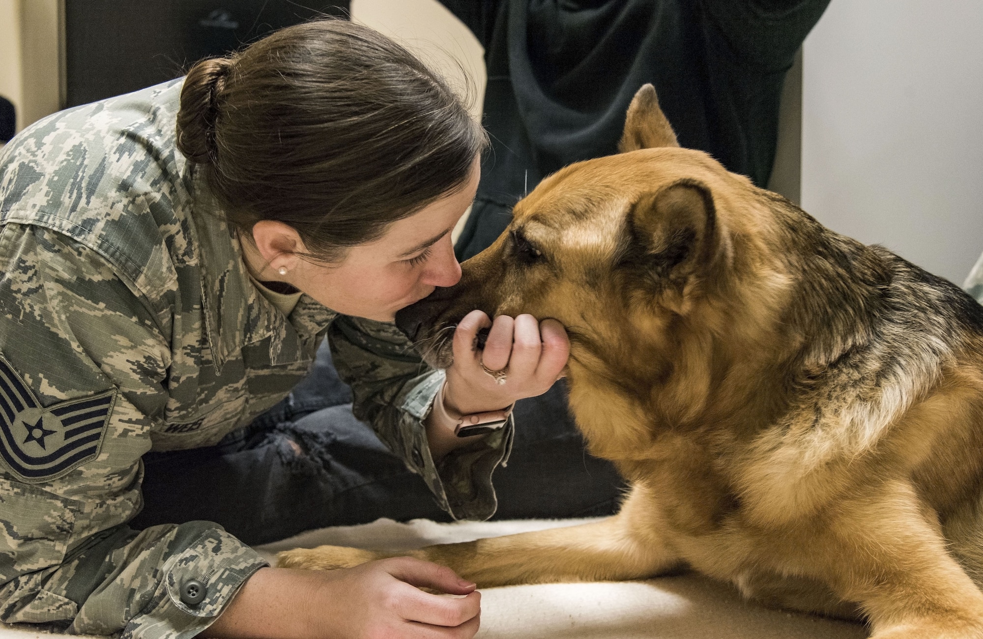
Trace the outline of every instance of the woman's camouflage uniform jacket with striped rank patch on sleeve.
{"label": "woman's camouflage uniform jacket with striped rank patch on sleeve", "polygon": [[[141,456],[213,444],[284,397],[329,335],[355,412],[458,518],[487,518],[512,430],[437,468],[443,373],[392,324],[289,317],[175,147],[181,81],[45,118],[0,154],[0,620],[192,637],[265,565],[219,525],[131,530]],[[200,600],[200,601],[198,601]]]}

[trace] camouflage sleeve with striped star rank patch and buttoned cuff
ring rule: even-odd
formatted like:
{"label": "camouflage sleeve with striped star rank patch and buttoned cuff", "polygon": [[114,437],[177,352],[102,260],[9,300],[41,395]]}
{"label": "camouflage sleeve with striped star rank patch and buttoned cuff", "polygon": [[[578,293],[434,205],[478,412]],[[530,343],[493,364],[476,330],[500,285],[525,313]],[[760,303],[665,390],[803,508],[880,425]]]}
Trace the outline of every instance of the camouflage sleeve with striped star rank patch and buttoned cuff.
{"label": "camouflage sleeve with striped star rank patch and buttoned cuff", "polygon": [[210,522],[126,525],[166,401],[164,320],[86,247],[0,227],[0,620],[190,638],[266,565]]}

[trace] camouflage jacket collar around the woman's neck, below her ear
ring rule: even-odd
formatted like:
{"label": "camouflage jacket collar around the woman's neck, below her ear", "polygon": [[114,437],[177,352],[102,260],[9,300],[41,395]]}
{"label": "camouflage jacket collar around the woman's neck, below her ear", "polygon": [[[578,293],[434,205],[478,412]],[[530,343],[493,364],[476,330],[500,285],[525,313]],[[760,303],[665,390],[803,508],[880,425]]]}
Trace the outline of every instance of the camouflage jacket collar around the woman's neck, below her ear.
{"label": "camouflage jacket collar around the woman's neck, below her ear", "polygon": [[247,344],[270,337],[270,364],[291,364],[313,357],[311,341],[337,315],[308,295],[284,318],[250,280],[235,229],[204,185],[194,177],[194,218],[202,270],[204,333],[216,371]]}

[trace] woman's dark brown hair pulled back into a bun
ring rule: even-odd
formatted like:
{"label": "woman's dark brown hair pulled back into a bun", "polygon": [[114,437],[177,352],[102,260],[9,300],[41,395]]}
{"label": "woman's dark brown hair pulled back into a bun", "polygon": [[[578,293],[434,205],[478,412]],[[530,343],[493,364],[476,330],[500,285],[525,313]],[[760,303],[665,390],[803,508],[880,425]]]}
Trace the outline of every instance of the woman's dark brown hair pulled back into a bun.
{"label": "woman's dark brown hair pulled back into a bun", "polygon": [[247,237],[257,221],[278,220],[328,262],[463,186],[487,145],[442,78],[342,20],[281,29],[196,64],[177,141]]}

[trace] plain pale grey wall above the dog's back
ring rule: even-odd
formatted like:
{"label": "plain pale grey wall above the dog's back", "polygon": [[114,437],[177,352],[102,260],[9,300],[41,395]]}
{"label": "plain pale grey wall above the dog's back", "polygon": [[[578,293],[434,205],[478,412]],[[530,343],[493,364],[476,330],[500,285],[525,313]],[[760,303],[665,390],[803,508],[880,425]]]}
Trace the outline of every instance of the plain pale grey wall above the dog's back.
{"label": "plain pale grey wall above the dog's back", "polygon": [[802,207],[961,284],[983,251],[983,2],[833,0],[804,53]]}

